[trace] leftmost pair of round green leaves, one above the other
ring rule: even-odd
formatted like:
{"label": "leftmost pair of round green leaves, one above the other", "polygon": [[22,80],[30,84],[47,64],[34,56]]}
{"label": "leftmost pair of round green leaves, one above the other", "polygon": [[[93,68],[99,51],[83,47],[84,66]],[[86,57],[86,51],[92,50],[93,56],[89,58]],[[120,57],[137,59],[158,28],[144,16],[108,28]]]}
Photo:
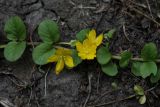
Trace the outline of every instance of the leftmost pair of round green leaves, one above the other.
{"label": "leftmost pair of round green leaves, one above the other", "polygon": [[10,18],[4,27],[9,43],[4,49],[4,57],[10,61],[18,60],[25,51],[26,27],[20,17]]}

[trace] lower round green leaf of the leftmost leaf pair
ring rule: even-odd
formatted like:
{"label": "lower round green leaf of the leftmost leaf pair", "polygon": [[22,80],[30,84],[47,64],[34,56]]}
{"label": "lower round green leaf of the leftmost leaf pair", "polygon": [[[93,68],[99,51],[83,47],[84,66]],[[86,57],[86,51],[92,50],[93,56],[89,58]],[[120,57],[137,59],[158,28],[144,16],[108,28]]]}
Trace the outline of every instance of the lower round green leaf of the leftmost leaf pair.
{"label": "lower round green leaf of the leftmost leaf pair", "polygon": [[9,42],[4,49],[4,57],[10,61],[18,60],[26,48],[26,42]]}

